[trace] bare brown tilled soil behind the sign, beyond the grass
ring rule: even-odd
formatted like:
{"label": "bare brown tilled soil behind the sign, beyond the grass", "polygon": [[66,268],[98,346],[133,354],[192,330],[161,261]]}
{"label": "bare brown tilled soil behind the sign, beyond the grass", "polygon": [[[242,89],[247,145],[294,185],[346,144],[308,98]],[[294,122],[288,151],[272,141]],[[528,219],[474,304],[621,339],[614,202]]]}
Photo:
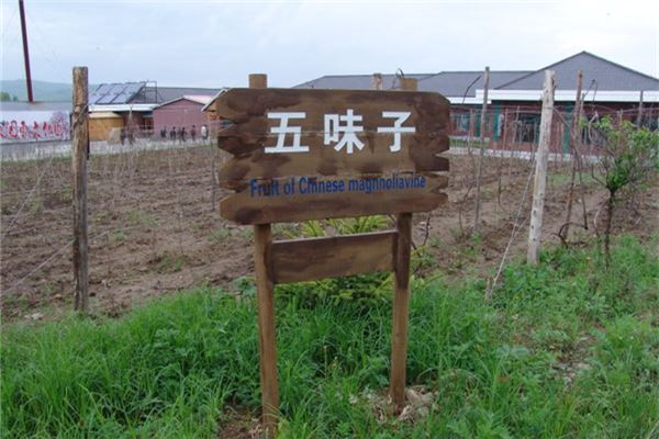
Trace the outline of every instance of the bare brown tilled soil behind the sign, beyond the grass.
{"label": "bare brown tilled soil behind the sign, beyond the grass", "polygon": [[[236,279],[253,275],[252,228],[225,222],[217,211],[219,200],[227,194],[213,182],[213,169],[221,161],[212,147],[90,158],[89,267],[94,312],[119,315],[148,297],[200,284],[233,289]],[[549,165],[546,241],[557,241],[556,234],[566,222],[570,166]],[[474,239],[473,162],[469,156],[451,156],[449,202],[431,214],[414,216],[415,270],[491,275],[517,212],[521,232],[510,255],[523,255],[533,191],[533,181],[527,185],[530,168],[525,160],[485,158],[480,238]],[[591,235],[595,217],[600,224],[604,221],[604,213],[597,212],[605,193],[590,176],[584,178],[589,230],[572,226],[571,241]],[[52,318],[71,307],[70,181],[68,159],[2,164],[0,303],[4,318]],[[643,237],[659,230],[657,188],[655,183],[623,206],[616,232]],[[583,222],[579,200],[572,222]]]}

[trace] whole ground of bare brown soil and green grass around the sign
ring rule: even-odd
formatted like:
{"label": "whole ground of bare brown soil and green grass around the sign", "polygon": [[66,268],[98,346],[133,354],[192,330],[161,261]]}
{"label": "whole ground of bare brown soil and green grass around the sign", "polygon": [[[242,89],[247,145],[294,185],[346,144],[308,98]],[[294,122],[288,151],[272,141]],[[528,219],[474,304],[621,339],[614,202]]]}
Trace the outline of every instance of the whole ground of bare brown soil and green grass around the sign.
{"label": "whole ground of bare brown soil and green grass around the sign", "polygon": [[[89,318],[70,311],[69,161],[3,164],[8,437],[258,437],[252,229],[215,211],[221,161],[212,147],[90,159]],[[278,288],[281,437],[657,437],[657,181],[621,205],[606,269],[605,193],[584,175],[589,229],[572,226],[562,245],[569,164],[550,164],[532,268],[530,166],[485,159],[478,236],[468,155],[451,157],[449,203],[415,215],[401,416],[386,396],[388,275]],[[337,233],[321,225],[275,232]]]}

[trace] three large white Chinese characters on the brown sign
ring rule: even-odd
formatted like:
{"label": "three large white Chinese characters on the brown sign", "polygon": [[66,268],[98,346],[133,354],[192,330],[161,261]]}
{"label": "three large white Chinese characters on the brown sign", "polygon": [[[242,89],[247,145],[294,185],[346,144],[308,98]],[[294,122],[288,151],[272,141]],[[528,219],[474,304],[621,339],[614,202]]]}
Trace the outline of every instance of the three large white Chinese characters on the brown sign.
{"label": "three large white Chinese characters on the brown sign", "polygon": [[[393,143],[389,146],[391,153],[401,150],[401,135],[403,133],[415,133],[414,126],[403,126],[403,123],[410,117],[409,111],[382,111],[382,117],[393,119],[393,126],[379,126],[378,133],[393,134]],[[277,134],[277,144],[266,146],[266,154],[280,153],[309,153],[309,146],[300,145],[302,128],[300,126],[289,126],[289,120],[304,120],[305,112],[272,112],[268,113],[268,119],[279,119],[279,126],[270,127],[270,134]],[[346,114],[325,114],[324,115],[324,145],[334,144],[334,149],[340,151],[344,149],[347,154],[353,154],[355,148],[361,150],[364,142],[358,133],[364,132],[362,116],[355,114],[353,109],[348,109]],[[292,134],[292,145],[286,145],[286,135]]]}

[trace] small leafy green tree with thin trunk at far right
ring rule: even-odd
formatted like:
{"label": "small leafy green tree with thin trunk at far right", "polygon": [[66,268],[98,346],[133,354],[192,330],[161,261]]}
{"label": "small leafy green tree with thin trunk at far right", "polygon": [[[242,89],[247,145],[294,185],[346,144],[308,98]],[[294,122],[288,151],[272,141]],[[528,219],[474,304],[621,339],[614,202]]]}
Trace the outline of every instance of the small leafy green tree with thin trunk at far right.
{"label": "small leafy green tree with thin trunk at far right", "polygon": [[604,254],[611,262],[611,228],[619,196],[633,194],[659,170],[659,132],[636,127],[627,121],[615,126],[605,116],[591,126],[591,139],[600,153],[599,169],[593,178],[608,191]]}

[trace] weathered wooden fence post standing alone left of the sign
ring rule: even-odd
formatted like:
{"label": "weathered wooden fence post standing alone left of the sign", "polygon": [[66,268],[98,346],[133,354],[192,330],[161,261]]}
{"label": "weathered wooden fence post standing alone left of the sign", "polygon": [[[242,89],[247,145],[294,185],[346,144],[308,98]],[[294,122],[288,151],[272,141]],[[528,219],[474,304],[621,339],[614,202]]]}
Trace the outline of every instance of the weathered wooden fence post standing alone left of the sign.
{"label": "weathered wooden fence post standing alone left of the sign", "polygon": [[71,173],[74,185],[74,307],[89,312],[87,245],[87,154],[89,121],[87,67],[74,67],[74,111],[71,115]]}

